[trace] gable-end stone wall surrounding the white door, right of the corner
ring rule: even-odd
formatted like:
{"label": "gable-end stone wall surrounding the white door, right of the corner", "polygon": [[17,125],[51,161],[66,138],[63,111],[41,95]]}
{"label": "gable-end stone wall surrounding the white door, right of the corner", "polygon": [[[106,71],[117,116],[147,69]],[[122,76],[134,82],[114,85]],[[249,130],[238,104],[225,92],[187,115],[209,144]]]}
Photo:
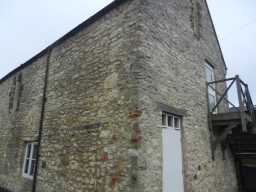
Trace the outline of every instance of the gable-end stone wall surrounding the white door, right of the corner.
{"label": "gable-end stone wall surrounding the white door, right of the corner", "polygon": [[[223,160],[218,148],[211,158],[207,124],[205,60],[215,68],[216,79],[225,77],[224,61],[205,2],[200,3],[200,36],[192,27],[190,0],[146,0],[142,7],[143,45],[140,60],[139,104],[142,146],[139,185],[142,191],[158,192],[162,185],[161,107],[186,111],[183,117],[183,169],[185,191],[237,191],[230,152]],[[175,154],[174,154],[175,155]],[[145,179],[143,179],[145,178]]]}

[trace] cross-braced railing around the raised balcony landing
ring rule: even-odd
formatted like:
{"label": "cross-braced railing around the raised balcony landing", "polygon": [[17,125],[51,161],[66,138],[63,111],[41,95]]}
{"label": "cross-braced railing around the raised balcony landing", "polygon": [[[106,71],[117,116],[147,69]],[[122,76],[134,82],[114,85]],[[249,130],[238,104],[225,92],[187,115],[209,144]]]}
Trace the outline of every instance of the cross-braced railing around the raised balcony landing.
{"label": "cross-braced railing around the raised balcony landing", "polygon": [[[222,91],[219,91],[218,85],[220,83],[224,83],[222,87]],[[230,83],[228,86],[227,84]],[[237,90],[237,98],[238,98],[238,106],[236,106],[234,103],[232,103],[228,99],[228,94],[229,91],[233,86],[236,86]],[[233,78],[228,78],[228,79],[222,79],[218,81],[212,81],[207,83],[207,97],[208,97],[208,105],[209,105],[209,89],[213,90],[216,94],[216,104],[209,108],[209,113],[210,114],[216,114],[218,108],[221,106],[221,103],[224,102],[230,106],[232,106],[232,111],[233,112],[239,112],[241,115],[241,121],[242,121],[242,128],[243,131],[247,131],[247,117],[249,116],[251,119],[251,122],[253,125],[256,125],[256,116],[255,116],[255,106],[253,105],[251,95],[249,92],[248,85],[244,83],[239,76],[235,76]],[[227,107],[227,112],[230,112],[230,108]]]}

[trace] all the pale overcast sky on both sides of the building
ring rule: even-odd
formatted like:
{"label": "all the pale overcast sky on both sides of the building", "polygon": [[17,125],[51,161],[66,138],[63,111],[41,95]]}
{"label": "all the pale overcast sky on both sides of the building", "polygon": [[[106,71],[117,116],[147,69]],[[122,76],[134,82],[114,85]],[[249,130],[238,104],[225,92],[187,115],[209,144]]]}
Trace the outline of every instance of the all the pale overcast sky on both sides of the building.
{"label": "all the pale overcast sky on both sides of the building", "polygon": [[[0,78],[112,0],[1,0]],[[256,103],[256,1],[208,0],[228,75],[240,74]]]}

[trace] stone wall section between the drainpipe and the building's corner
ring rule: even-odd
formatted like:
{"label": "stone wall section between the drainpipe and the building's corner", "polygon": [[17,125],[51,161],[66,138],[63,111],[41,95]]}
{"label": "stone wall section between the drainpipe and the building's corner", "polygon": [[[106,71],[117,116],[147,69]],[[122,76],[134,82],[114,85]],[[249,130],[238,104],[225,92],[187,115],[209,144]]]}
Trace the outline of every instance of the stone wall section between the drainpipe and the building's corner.
{"label": "stone wall section between the drainpipe and the building's corner", "polygon": [[37,191],[133,191],[136,4],[115,8],[52,50]]}

